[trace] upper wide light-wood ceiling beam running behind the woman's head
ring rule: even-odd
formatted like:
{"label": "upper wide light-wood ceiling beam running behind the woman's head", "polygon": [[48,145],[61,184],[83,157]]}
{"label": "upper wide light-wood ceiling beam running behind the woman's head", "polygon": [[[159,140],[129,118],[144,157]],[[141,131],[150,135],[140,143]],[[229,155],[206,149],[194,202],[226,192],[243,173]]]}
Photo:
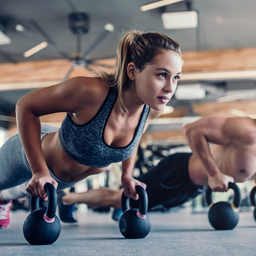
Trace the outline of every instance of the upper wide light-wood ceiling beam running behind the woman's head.
{"label": "upper wide light-wood ceiling beam running behind the woman's head", "polygon": [[[256,78],[255,56],[256,48],[184,52],[182,79]],[[115,59],[97,62],[113,66]],[[71,63],[65,59],[3,63],[0,64],[0,90],[49,86],[60,81],[70,67]],[[92,76],[92,73],[78,67],[70,77],[74,76]]]}

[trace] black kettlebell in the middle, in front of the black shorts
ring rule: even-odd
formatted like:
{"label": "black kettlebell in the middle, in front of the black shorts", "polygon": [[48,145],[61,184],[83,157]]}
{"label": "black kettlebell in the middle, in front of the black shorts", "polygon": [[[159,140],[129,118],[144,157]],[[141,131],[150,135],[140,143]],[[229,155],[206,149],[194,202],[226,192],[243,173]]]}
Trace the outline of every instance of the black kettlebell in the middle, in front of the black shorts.
{"label": "black kettlebell in the middle, in front of the black shorts", "polygon": [[119,219],[119,229],[125,238],[144,238],[150,232],[151,222],[147,212],[147,193],[142,186],[135,186],[136,192],[139,194],[139,209],[129,207],[128,198],[122,194],[121,204],[123,214]]}

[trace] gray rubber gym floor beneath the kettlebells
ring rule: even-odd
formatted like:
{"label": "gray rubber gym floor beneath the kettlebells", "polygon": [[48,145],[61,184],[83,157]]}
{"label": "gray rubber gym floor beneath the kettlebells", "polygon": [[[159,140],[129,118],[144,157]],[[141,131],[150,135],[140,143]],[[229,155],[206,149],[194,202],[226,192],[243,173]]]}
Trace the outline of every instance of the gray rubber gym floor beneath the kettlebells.
{"label": "gray rubber gym floor beneath the kettlebells", "polygon": [[12,212],[0,230],[0,255],[256,255],[252,212],[240,212],[238,226],[216,231],[206,214],[150,212],[152,230],[144,239],[124,239],[109,214],[79,214],[79,225],[62,223],[52,245],[32,246],[22,233],[27,212]]}

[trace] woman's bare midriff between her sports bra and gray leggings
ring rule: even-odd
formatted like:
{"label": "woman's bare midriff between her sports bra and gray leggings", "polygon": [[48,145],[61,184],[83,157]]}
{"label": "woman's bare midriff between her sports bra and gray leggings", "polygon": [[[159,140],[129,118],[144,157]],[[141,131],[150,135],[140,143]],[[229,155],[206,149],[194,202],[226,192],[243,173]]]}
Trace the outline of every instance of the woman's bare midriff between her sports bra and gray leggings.
{"label": "woman's bare midriff between her sports bra and gray leggings", "polygon": [[76,162],[63,150],[58,132],[47,134],[41,145],[47,165],[62,181],[76,182],[89,175],[102,173],[107,168],[86,166]]}

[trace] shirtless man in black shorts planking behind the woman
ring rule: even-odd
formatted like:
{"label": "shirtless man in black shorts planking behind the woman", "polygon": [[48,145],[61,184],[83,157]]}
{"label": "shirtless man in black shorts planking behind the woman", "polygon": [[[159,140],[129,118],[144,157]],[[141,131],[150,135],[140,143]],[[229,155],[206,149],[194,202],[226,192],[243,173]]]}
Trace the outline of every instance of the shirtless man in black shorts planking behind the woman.
{"label": "shirtless man in black shorts planking behind the woman", "polygon": [[[196,197],[203,186],[226,191],[228,182],[243,182],[256,173],[256,119],[203,117],[186,124],[183,132],[191,153],[176,153],[138,178],[147,185],[148,206],[178,206]],[[210,143],[210,145],[209,145]],[[66,204],[121,208],[120,190],[100,188],[62,197]],[[138,201],[131,199],[132,207]]]}

